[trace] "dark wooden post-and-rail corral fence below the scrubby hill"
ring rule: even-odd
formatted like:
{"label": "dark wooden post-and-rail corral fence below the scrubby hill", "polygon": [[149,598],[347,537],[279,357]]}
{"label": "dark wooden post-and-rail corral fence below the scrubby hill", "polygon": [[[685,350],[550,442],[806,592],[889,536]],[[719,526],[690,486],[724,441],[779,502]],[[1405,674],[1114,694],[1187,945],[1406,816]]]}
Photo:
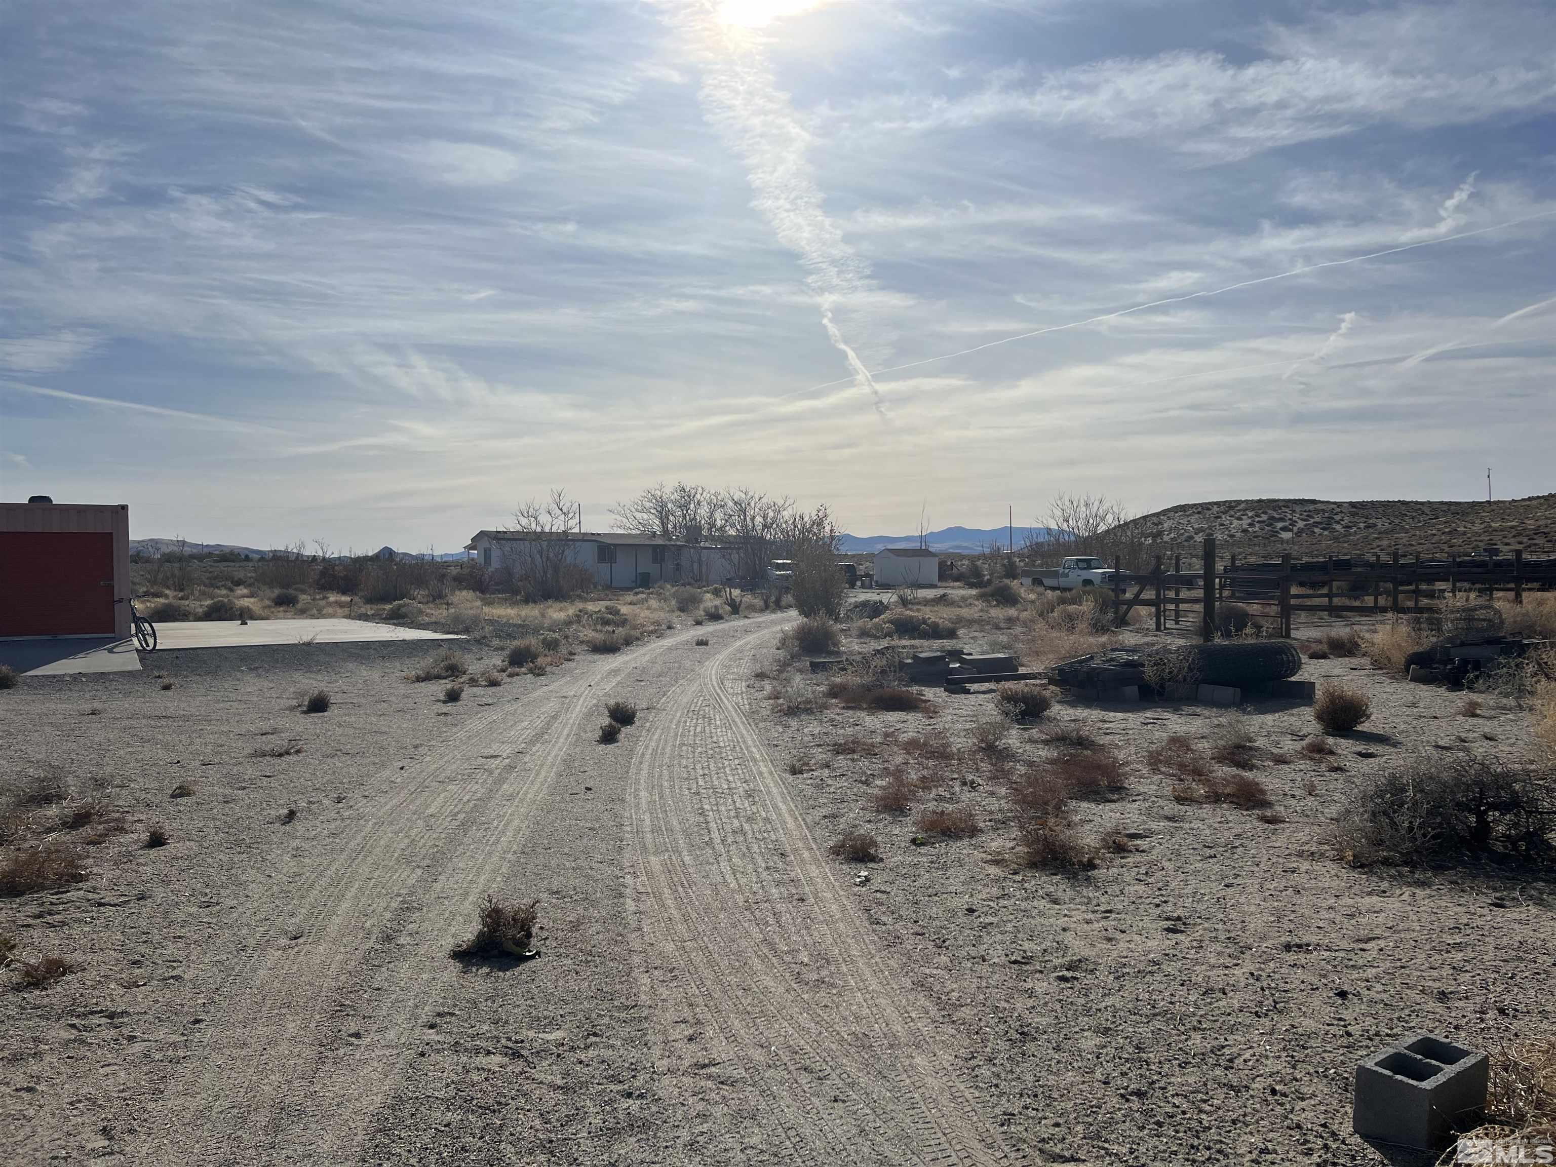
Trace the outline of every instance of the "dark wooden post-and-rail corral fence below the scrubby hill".
{"label": "dark wooden post-and-rail corral fence below the scrubby hill", "polygon": [[1197,624],[1206,640],[1215,636],[1218,602],[1240,604],[1251,615],[1277,622],[1279,635],[1290,636],[1296,615],[1411,615],[1432,612],[1442,596],[1460,593],[1488,599],[1502,593],[1522,604],[1525,590],[1551,588],[1556,588],[1556,559],[1523,559],[1522,551],[1447,559],[1416,554],[1408,560],[1394,551],[1388,560],[1330,555],[1299,563],[1290,555],[1273,563],[1239,563],[1231,555],[1223,565],[1214,537],[1204,540],[1198,569],[1184,571],[1183,555],[1173,555],[1169,568],[1158,555],[1150,571],[1117,571],[1113,577],[1120,627],[1131,608],[1153,608],[1158,632]]}

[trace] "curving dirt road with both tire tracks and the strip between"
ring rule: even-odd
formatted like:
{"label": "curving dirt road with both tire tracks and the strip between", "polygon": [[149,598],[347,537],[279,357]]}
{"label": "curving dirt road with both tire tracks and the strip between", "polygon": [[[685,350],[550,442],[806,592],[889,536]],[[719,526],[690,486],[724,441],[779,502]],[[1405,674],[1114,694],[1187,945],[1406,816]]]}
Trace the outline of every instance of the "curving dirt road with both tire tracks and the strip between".
{"label": "curving dirt road with both tire tracks and the strip between", "polygon": [[[193,977],[199,1036],[148,1067],[157,1092],[124,1156],[443,1159],[459,1144],[451,1116],[517,1105],[571,1150],[537,1150],[498,1119],[493,1137],[524,1150],[461,1158],[604,1161],[585,1150],[593,1127],[646,1106],[655,1117],[627,1161],[1008,1161],[948,1035],[876,952],[848,873],[823,859],[731,696],[731,675],[776,627],[688,629],[574,661],[366,783],[384,792],[367,815],[246,881],[246,927],[215,937]],[[699,635],[713,644],[694,646]],[[601,703],[618,692],[649,700],[622,747],[599,747]],[[612,767],[615,798],[574,797]],[[557,921],[537,965],[462,972],[448,948],[487,892],[510,887],[596,902],[604,923]],[[492,1001],[501,1021],[482,1024]],[[616,1064],[473,1077],[461,1049],[548,1013],[608,1038]],[[429,1050],[429,1033],[450,1047]],[[624,1085],[594,1105],[590,1130],[571,1131],[548,1099],[585,1091],[590,1075]],[[34,1134],[23,1145],[50,1145]]]}

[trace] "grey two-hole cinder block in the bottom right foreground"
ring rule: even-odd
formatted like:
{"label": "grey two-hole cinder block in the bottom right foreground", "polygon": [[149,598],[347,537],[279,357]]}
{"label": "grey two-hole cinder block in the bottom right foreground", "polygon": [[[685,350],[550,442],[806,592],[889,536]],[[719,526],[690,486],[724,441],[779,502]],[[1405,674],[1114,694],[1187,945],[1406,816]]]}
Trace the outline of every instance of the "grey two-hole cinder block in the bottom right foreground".
{"label": "grey two-hole cinder block in the bottom right foreground", "polygon": [[1418,1033],[1357,1066],[1351,1128],[1363,1139],[1430,1151],[1480,1122],[1489,1061]]}

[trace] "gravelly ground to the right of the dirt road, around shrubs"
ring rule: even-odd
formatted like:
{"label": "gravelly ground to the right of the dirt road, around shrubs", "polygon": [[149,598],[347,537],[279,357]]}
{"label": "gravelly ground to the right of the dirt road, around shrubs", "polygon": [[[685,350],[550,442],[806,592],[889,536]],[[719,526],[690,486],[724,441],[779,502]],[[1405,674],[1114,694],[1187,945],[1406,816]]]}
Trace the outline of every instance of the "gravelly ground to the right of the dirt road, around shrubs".
{"label": "gravelly ground to the right of the dirt road, around shrubs", "polygon": [[[783,716],[759,702],[775,756],[803,770],[789,781],[815,836],[878,836],[882,862],[853,893],[944,1027],[996,1069],[990,1105],[1013,1116],[1033,1161],[1377,1162],[1349,1133],[1358,1060],[1418,1030],[1484,1049],[1556,1029],[1547,881],[1355,870],[1327,842],[1347,790],[1397,758],[1526,756],[1528,714],[1488,700],[1466,717],[1463,694],[1360,660],[1309,661],[1301,675],[1360,685],[1374,716],[1337,739],[1337,758],[1315,759],[1298,750],[1316,731],[1309,706],[1246,708],[1273,823],[1181,804],[1145,761],[1169,734],[1206,742],[1225,713],[1057,705],[1046,720],[1089,728],[1128,776],[1117,801],[1074,806],[1089,834],[1133,850],[1075,878],[1022,865],[997,778],[921,795],[974,808],[985,829],[968,840],[915,846],[912,812],[868,804],[887,775],[924,772],[909,739],[926,730],[971,750],[993,696],[926,691],[927,716]],[[755,678],[753,700],[766,688]],[[1032,727],[1011,733],[1007,761],[1019,773],[1053,753]]]}

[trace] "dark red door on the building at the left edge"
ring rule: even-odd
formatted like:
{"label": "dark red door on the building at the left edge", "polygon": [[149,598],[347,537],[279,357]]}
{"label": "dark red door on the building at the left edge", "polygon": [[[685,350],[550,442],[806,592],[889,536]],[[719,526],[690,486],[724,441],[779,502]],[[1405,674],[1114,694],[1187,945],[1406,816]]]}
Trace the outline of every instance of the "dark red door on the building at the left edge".
{"label": "dark red door on the building at the left edge", "polygon": [[114,535],[0,531],[0,636],[114,635]]}

